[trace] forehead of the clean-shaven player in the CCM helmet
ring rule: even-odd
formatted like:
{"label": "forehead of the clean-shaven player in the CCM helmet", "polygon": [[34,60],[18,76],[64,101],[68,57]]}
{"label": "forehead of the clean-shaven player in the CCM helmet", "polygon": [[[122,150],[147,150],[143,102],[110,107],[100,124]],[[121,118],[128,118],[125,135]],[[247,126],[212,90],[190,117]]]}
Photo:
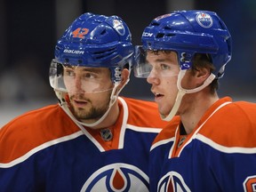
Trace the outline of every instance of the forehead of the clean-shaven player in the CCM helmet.
{"label": "forehead of the clean-shaven player in the CCM helmet", "polygon": [[157,52],[152,52],[148,51],[147,52],[147,58],[149,62],[173,62],[173,61],[178,61],[177,60],[177,53],[168,51],[168,52],[162,52],[162,51],[157,51]]}

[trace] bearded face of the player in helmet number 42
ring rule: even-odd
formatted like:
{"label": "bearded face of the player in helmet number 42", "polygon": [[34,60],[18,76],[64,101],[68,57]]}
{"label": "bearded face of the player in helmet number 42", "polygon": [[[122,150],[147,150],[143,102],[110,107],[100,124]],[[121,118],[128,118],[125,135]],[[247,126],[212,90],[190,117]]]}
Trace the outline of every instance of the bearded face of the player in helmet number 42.
{"label": "bearded face of the player in helmet number 42", "polygon": [[108,110],[113,84],[108,68],[64,68],[70,109],[84,123],[93,123]]}

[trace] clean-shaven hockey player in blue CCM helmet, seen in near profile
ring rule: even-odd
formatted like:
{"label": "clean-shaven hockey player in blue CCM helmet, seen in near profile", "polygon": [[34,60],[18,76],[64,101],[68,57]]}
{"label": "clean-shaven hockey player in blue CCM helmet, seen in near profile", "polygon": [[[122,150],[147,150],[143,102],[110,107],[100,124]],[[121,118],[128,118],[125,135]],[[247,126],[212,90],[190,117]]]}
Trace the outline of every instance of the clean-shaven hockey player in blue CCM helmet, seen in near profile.
{"label": "clean-shaven hockey player in blue CCM helmet, seen in near profile", "polygon": [[150,149],[150,191],[255,191],[256,104],[217,93],[231,48],[215,12],[171,12],[144,29],[135,76],[171,121]]}

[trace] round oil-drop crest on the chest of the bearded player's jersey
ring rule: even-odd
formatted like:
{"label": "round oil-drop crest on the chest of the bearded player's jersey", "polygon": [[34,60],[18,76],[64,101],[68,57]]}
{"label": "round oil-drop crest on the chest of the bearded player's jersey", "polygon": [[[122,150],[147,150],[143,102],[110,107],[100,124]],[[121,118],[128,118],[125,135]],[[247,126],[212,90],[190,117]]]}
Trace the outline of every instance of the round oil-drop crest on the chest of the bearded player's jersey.
{"label": "round oil-drop crest on the chest of the bearded player's jersey", "polygon": [[131,164],[108,164],[94,172],[81,191],[148,191],[147,186],[148,176],[138,167]]}

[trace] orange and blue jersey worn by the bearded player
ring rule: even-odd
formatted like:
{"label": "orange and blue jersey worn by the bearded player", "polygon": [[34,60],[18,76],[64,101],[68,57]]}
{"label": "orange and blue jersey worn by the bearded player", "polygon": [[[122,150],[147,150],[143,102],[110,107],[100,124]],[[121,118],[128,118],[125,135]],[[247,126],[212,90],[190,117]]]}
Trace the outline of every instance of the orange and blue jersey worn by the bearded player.
{"label": "orange and blue jersey worn by the bearded player", "polygon": [[76,124],[59,105],[0,130],[0,191],[148,191],[148,155],[166,124],[156,103],[119,98],[113,140]]}

